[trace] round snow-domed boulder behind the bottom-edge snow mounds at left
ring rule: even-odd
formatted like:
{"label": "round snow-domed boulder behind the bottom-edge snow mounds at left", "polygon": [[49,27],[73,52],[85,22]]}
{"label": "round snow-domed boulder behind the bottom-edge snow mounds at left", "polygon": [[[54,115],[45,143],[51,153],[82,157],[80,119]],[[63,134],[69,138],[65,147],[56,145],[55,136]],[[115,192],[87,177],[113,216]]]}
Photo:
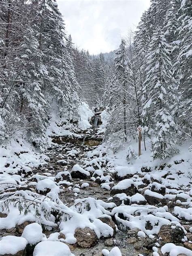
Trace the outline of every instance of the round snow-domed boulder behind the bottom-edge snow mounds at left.
{"label": "round snow-domed boulder behind the bottom-edge snow mounds at left", "polygon": [[43,238],[43,230],[38,223],[32,223],[27,225],[21,237],[24,237],[29,244],[36,244]]}

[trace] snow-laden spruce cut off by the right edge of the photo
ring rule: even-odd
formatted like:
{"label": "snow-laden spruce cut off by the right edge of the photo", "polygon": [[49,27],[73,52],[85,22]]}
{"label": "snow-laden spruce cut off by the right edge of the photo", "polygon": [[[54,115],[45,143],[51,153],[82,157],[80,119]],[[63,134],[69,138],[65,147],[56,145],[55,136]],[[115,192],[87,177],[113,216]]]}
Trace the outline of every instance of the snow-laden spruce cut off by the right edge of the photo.
{"label": "snow-laden spruce cut off by the right edge of the photo", "polygon": [[179,44],[179,55],[177,57],[177,62],[175,64],[177,68],[177,75],[179,77],[179,106],[178,106],[178,118],[179,126],[181,130],[187,132],[187,134],[192,134],[191,129],[191,119],[192,119],[192,7],[191,1],[181,0],[181,7],[179,9],[179,28],[178,39]]}

